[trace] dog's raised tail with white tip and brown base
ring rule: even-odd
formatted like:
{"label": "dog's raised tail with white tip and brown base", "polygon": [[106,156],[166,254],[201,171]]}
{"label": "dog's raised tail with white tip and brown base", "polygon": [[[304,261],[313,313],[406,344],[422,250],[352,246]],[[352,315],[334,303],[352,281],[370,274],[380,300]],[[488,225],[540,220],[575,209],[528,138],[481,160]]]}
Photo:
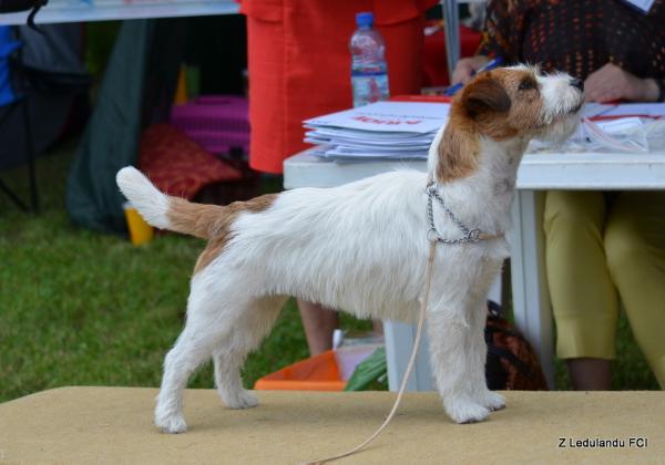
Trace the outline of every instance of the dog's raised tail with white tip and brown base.
{"label": "dog's raised tail with white tip and brown base", "polygon": [[120,190],[152,226],[209,239],[228,220],[218,205],[193,204],[161,193],[139,169],[126,166],[117,172]]}

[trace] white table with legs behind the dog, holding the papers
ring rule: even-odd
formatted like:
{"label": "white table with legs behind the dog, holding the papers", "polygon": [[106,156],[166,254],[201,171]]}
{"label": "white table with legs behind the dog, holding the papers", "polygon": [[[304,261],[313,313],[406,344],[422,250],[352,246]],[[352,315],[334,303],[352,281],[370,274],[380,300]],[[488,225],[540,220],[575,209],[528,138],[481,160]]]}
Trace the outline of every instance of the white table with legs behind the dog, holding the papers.
{"label": "white table with legs behind the dog, holding the papers", "polygon": [[[379,173],[409,167],[426,170],[426,162],[371,161],[338,164],[301,152],[284,163],[284,186],[332,187]],[[665,151],[649,154],[526,154],[520,165],[510,231],[513,314],[534,345],[548,382],[554,385],[552,314],[543,266],[542,209],[538,192],[665,189]],[[423,206],[424,210],[424,206]],[[539,211],[540,210],[540,211]],[[390,389],[401,379],[413,341],[413,327],[386,326]],[[427,350],[420,350],[410,390],[431,389]]]}

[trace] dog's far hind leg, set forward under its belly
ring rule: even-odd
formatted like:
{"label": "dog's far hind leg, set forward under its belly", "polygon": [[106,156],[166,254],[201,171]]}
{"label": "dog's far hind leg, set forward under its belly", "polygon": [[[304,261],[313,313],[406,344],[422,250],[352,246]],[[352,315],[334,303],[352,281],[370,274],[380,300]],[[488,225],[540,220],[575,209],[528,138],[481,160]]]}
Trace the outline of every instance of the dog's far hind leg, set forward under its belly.
{"label": "dog's far hind leg, set forward under its belly", "polygon": [[229,324],[232,332],[215,348],[215,384],[222,401],[229,409],[256,406],[256,396],[243,388],[241,369],[247,354],[265,338],[286,301],[282,296],[256,299],[247,304]]}

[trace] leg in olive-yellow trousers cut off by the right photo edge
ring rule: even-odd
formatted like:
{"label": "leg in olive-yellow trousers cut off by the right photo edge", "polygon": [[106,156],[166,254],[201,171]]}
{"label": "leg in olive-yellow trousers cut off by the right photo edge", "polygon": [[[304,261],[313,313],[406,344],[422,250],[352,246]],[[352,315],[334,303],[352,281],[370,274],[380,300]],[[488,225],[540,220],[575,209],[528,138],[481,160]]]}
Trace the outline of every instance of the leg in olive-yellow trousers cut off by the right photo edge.
{"label": "leg in olive-yellow trousers cut off by the right photo edge", "polygon": [[605,250],[633,334],[665,389],[665,193],[622,193],[608,216]]}

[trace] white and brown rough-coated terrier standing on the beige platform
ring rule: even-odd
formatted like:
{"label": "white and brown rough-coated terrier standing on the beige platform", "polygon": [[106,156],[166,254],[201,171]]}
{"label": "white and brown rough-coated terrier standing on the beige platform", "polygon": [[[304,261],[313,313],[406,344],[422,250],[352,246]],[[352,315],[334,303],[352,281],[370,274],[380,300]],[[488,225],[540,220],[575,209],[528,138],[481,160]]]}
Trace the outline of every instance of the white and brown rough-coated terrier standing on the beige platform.
{"label": "white and brown rough-coated terrier standing on the beige platform", "polygon": [[489,286],[509,255],[503,232],[518,165],[531,138],[572,133],[583,99],[581,81],[566,74],[519,65],[478,75],[432,143],[430,189],[427,174],[397,170],[335,188],[196,205],[160,193],[132,167],[121,169],[117,185],[150,224],[208,239],[194,268],[185,328],[164,362],[155,424],[167,433],[186,430],[183,390],[211,358],[224,403],[255,406],[241,366],[287,296],[360,318],[413,321],[432,197],[436,236],[470,236],[437,249],[427,314],[437,388],[459,423],[503,407],[485,384],[483,324]]}

